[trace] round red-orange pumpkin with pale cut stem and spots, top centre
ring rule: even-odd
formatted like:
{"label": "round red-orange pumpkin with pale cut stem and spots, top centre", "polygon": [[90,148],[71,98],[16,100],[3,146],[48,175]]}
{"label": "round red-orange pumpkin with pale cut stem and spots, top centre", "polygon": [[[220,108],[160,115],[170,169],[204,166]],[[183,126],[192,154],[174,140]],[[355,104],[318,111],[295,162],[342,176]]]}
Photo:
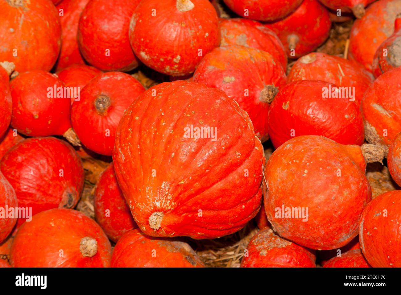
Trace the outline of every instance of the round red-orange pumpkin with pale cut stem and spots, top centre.
{"label": "round red-orange pumpkin with pale cut stem and spots, top centre", "polygon": [[142,1],[132,15],[130,41],[148,67],[170,76],[185,76],[219,46],[219,19],[208,0]]}

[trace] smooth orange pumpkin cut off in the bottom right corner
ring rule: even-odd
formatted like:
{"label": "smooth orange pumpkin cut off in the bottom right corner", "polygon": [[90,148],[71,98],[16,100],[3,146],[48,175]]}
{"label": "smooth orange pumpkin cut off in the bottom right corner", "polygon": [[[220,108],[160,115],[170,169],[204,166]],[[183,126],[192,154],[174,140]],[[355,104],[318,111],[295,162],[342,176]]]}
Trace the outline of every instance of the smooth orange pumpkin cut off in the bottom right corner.
{"label": "smooth orange pumpkin cut off in the bottom right corner", "polygon": [[372,267],[401,267],[400,208],[401,191],[396,190],[375,197],[363,211],[359,242]]}

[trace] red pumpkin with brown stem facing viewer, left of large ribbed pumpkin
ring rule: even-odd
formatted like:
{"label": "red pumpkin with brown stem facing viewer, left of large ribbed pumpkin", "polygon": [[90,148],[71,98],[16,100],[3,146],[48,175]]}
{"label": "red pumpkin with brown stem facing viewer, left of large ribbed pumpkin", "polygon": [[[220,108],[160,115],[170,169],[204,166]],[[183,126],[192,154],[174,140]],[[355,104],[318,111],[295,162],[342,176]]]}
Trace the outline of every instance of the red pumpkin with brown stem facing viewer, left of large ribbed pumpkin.
{"label": "red pumpkin with brown stem facing viewer, left of large ribbed pumpkin", "polygon": [[108,72],[93,78],[71,108],[71,122],[81,142],[96,153],[111,156],[119,120],[144,91],[126,73]]}

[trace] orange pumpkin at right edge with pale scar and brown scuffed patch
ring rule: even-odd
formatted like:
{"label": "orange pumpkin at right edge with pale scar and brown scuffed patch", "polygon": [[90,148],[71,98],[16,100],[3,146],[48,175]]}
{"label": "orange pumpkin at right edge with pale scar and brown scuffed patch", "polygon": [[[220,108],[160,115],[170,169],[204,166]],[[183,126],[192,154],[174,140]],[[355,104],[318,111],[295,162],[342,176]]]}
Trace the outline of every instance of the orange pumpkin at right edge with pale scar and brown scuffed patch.
{"label": "orange pumpkin at right edge with pale scar and brown scuffed patch", "polygon": [[385,149],[401,132],[401,67],[380,75],[365,91],[362,112],[366,140]]}

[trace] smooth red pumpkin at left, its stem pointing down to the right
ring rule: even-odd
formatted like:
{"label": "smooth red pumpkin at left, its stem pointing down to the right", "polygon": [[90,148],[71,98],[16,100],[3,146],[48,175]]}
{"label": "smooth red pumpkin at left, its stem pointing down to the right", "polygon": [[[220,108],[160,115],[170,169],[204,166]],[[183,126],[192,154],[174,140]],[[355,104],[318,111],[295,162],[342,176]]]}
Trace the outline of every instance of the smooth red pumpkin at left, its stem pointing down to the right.
{"label": "smooth red pumpkin at left, its stem pointing down to the right", "polygon": [[70,120],[69,96],[73,93],[65,91],[57,76],[42,70],[22,73],[12,79],[10,90],[11,126],[18,132],[28,136],[63,135],[79,144]]}

